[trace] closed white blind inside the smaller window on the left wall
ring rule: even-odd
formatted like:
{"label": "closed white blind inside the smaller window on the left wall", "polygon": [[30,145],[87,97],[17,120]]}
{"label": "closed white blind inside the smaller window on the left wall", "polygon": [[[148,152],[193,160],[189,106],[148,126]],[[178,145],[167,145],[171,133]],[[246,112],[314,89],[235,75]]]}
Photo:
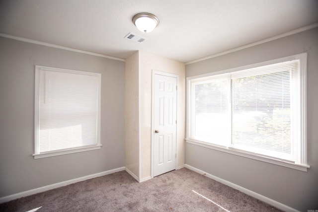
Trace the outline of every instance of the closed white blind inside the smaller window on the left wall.
{"label": "closed white blind inside the smaller window on the left wall", "polygon": [[97,143],[98,76],[40,71],[39,153]]}

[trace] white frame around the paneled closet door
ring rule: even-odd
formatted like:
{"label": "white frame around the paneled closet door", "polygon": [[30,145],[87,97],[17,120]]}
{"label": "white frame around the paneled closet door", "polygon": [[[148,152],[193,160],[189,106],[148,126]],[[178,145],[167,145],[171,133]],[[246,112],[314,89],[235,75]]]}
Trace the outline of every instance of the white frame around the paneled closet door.
{"label": "white frame around the paneled closet door", "polygon": [[[163,71],[156,71],[153,70],[152,73],[152,104],[151,104],[151,178],[154,178],[154,132],[155,132],[155,128],[154,128],[154,118],[155,118],[155,110],[154,110],[154,106],[155,106],[155,75],[163,75],[163,76],[170,76],[170,77],[174,77],[177,79],[177,88],[179,87],[179,75],[178,74],[174,74],[174,73],[167,73],[167,72],[163,72]],[[176,120],[178,120],[178,89],[176,90]],[[176,129],[175,129],[175,153],[176,153],[176,159],[175,159],[175,169],[177,169],[178,167],[178,140],[177,140],[177,132],[178,132],[178,125],[176,124]]]}

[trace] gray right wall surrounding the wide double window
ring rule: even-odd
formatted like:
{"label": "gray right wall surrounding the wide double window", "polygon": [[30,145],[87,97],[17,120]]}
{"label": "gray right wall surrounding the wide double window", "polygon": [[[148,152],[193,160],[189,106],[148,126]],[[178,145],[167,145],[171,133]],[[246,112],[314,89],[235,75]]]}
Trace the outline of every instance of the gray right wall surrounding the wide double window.
{"label": "gray right wall surrounding the wide double window", "polygon": [[[213,48],[213,47],[211,47]],[[185,162],[299,211],[318,210],[318,28],[186,66],[186,76],[308,53],[308,172],[186,143]]]}

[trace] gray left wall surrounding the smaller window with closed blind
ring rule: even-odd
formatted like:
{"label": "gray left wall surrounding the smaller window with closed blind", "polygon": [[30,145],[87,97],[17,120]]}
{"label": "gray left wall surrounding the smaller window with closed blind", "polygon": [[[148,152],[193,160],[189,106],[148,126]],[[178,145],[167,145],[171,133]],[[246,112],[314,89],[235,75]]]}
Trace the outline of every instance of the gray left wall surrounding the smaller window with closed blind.
{"label": "gray left wall surrounding the smaller window with closed blind", "polygon": [[[33,159],[35,65],[101,73],[101,149]],[[0,197],[124,167],[124,82],[124,62],[0,37]]]}

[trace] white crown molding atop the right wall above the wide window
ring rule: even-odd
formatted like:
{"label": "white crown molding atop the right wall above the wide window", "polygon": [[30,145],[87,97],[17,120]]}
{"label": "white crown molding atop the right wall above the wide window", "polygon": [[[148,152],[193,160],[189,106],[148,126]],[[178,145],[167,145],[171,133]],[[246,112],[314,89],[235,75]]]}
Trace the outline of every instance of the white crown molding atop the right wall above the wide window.
{"label": "white crown molding atop the right wall above the wide window", "polygon": [[242,49],[246,49],[246,48],[249,48],[249,47],[252,47],[252,46],[256,46],[256,45],[259,45],[259,44],[262,44],[262,43],[267,43],[269,41],[277,40],[279,38],[287,37],[289,35],[293,35],[293,34],[296,34],[296,33],[299,33],[299,32],[304,32],[304,31],[307,31],[307,30],[310,30],[310,29],[313,29],[313,28],[316,28],[316,27],[318,27],[318,23],[313,23],[313,24],[310,24],[310,25],[307,25],[307,26],[304,26],[304,27],[301,27],[301,28],[298,28],[298,29],[295,29],[295,30],[292,30],[292,31],[289,31],[289,32],[285,32],[285,33],[280,34],[280,35],[276,35],[276,36],[273,36],[273,37],[270,37],[270,38],[266,38],[264,40],[256,41],[254,43],[250,43],[250,44],[247,44],[247,45],[244,45],[244,46],[240,46],[240,47],[237,47],[237,48],[234,48],[234,49],[230,49],[230,50],[227,50],[227,51],[224,51],[224,52],[220,52],[220,53],[217,53],[217,54],[214,54],[214,55],[210,55],[210,56],[207,56],[207,57],[204,57],[204,58],[201,58],[201,59],[189,61],[189,62],[186,62],[185,65],[189,65],[189,64],[193,64],[193,63],[209,60],[209,59],[216,58],[216,57],[219,57],[221,55],[226,55],[226,54],[229,54],[229,53],[232,53],[232,52],[237,52],[237,51],[242,50]]}

